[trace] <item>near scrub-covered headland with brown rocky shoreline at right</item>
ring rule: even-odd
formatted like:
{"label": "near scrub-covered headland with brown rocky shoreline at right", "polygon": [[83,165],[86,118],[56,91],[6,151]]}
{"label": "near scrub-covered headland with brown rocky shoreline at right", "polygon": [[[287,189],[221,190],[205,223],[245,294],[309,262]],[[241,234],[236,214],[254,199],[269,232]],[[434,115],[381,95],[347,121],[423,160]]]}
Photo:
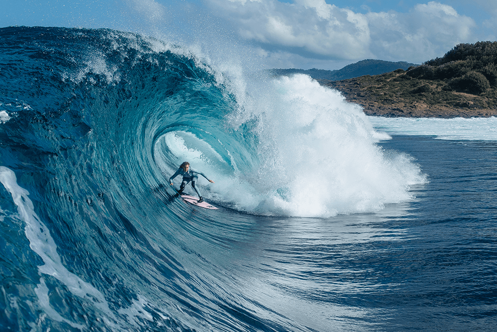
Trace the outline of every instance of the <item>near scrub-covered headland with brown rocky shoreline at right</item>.
{"label": "near scrub-covered headland with brown rocky shoreline at right", "polygon": [[497,116],[497,42],[459,44],[443,57],[407,70],[318,81],[369,115]]}

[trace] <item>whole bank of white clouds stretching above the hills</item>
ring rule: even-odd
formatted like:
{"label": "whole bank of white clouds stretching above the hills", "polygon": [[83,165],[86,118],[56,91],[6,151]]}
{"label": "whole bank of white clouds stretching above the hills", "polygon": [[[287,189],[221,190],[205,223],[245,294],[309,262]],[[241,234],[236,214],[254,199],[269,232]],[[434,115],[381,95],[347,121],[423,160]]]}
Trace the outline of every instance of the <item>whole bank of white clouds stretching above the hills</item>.
{"label": "whole bank of white clouds stretching above the hills", "polygon": [[407,13],[366,14],[325,0],[207,1],[215,13],[229,19],[241,37],[268,53],[350,62],[378,58],[420,63],[442,56],[458,43],[476,41],[472,18],[435,1],[417,4]]}

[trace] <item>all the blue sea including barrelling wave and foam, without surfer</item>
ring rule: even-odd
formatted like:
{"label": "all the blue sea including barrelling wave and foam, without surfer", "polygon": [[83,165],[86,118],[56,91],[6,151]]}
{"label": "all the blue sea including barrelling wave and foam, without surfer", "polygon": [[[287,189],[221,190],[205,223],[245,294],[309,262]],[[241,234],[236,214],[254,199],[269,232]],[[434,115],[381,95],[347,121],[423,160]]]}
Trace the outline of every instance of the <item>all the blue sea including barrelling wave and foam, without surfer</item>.
{"label": "all the blue sea including barrelling wave and foam, without surfer", "polygon": [[[495,118],[107,29],[0,40],[1,331],[497,329]],[[185,160],[219,210],[175,196]]]}

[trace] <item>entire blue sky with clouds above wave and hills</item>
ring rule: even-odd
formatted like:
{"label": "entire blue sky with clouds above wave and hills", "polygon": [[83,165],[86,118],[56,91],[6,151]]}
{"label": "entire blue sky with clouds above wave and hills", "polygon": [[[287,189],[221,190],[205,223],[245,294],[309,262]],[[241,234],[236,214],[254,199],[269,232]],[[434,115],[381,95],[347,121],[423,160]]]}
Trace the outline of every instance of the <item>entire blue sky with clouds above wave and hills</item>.
{"label": "entire blue sky with clouds above wave and hills", "polygon": [[420,64],[497,35],[497,0],[0,0],[0,6],[0,27],[139,32],[213,53],[243,49],[267,68],[332,70],[364,59]]}

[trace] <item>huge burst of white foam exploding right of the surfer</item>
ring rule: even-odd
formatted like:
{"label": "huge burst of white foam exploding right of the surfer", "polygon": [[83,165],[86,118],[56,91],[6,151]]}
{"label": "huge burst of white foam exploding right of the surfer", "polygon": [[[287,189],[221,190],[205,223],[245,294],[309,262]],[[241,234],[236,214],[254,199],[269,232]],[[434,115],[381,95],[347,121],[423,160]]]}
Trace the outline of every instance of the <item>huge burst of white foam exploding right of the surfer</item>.
{"label": "huge burst of white foam exploding right of the surfer", "polygon": [[262,162],[250,174],[219,174],[212,187],[239,208],[300,217],[374,212],[412,199],[409,186],[425,181],[412,158],[376,145],[390,136],[337,91],[305,75],[254,86],[229,121],[257,119]]}

